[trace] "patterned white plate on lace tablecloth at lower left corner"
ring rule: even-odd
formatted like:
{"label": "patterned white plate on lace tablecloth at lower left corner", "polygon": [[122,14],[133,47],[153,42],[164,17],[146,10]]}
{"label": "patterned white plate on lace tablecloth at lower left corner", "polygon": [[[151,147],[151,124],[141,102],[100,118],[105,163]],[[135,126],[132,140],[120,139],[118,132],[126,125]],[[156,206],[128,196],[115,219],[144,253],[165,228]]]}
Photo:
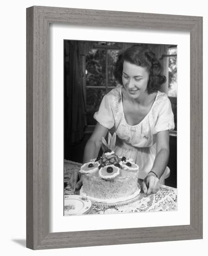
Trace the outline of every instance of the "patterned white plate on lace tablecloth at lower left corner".
{"label": "patterned white plate on lace tablecloth at lower left corner", "polygon": [[64,196],[64,216],[89,214],[92,210],[92,202],[81,195]]}

